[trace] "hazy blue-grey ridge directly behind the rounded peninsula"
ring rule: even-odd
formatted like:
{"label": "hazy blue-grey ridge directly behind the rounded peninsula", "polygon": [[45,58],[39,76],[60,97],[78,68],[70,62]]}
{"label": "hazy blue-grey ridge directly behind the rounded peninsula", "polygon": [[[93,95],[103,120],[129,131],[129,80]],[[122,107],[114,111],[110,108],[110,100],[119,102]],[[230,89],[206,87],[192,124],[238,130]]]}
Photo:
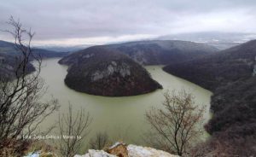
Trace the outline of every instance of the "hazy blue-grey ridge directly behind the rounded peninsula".
{"label": "hazy blue-grey ridge directly behind the rounded peninsula", "polygon": [[[218,49],[207,44],[177,40],[148,40],[125,44],[107,44],[96,47],[108,48],[128,55],[142,65],[166,65],[171,62],[188,61],[201,55],[212,54]],[[73,55],[68,61],[75,62]],[[63,61],[66,57],[63,58]]]}

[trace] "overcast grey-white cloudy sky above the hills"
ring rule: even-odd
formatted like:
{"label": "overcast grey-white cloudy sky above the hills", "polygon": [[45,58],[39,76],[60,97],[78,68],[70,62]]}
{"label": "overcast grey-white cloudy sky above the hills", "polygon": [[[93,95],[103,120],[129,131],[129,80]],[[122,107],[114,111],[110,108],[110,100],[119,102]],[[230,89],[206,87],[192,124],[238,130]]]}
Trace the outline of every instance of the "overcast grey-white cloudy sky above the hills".
{"label": "overcast grey-white cloudy sky above the hills", "polygon": [[[1,0],[36,44],[105,44],[182,32],[256,32],[255,0]],[[9,36],[0,32],[0,39]]]}

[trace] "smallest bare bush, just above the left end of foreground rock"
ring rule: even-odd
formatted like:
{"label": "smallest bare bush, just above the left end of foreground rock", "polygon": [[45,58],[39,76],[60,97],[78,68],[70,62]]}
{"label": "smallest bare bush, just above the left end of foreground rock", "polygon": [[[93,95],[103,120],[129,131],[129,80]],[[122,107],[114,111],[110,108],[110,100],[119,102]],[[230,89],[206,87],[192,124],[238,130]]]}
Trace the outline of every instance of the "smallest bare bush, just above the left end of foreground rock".
{"label": "smallest bare bush, just above the left end of foreground rock", "polygon": [[98,132],[96,137],[91,138],[89,147],[96,150],[101,150],[109,144],[109,138],[107,132]]}

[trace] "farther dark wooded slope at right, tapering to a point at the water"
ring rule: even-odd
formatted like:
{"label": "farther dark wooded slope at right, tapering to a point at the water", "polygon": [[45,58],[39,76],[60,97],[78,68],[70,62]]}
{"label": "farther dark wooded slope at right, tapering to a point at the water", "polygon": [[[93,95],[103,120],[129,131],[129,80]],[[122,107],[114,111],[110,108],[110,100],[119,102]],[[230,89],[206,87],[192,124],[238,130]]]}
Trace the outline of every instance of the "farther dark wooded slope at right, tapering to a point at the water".
{"label": "farther dark wooded slope at right, tapering to a point at the water", "polygon": [[193,61],[170,64],[164,70],[208,90],[215,90],[223,84],[252,77],[255,73],[255,56],[256,40],[253,40]]}

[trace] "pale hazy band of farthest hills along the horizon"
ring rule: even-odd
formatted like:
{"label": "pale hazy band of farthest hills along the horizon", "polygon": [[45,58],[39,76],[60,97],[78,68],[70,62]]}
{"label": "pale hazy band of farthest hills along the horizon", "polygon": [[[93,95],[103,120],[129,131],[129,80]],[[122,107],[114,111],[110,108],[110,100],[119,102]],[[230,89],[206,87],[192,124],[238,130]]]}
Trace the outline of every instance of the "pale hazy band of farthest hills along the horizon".
{"label": "pale hazy band of farthest hills along the horizon", "polygon": [[[249,40],[256,38],[256,33],[249,32],[187,32],[187,33],[173,33],[170,35],[161,35],[159,37],[148,37],[144,38],[141,41],[145,40],[181,40],[181,41],[190,41],[201,44],[208,44],[217,49],[229,49],[230,47],[236,46],[238,44],[246,43]],[[127,39],[125,42],[119,42],[118,38],[116,40],[110,40],[105,44],[124,44],[128,42],[133,42],[134,40]],[[138,40],[139,41],[139,40]],[[40,49],[49,49],[59,52],[74,52],[80,49],[85,49],[93,44],[45,44],[38,45],[37,48]]]}

